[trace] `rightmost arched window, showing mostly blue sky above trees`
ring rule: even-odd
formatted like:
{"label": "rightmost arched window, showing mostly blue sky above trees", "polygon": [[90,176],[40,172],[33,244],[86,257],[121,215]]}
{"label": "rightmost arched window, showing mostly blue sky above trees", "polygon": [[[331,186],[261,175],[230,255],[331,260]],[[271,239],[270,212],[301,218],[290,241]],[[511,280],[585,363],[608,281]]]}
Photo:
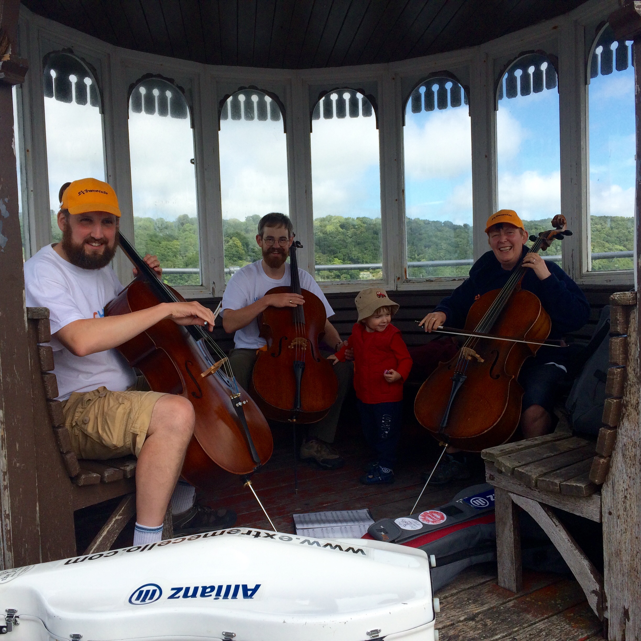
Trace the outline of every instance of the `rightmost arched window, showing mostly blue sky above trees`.
{"label": "rightmost arched window, showing mostly blue sky above trees", "polygon": [[588,59],[589,233],[592,271],[633,268],[635,71],[632,42],[597,35]]}

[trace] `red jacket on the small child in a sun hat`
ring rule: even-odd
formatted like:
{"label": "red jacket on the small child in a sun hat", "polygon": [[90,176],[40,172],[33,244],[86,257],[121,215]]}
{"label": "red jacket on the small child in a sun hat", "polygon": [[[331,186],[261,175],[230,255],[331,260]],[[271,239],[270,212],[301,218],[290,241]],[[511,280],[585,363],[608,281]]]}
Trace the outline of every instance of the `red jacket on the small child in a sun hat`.
{"label": "red jacket on the small child in a sun hat", "polygon": [[[385,331],[367,331],[357,322],[352,334],[336,354],[345,360],[345,349],[354,348],[354,390],[363,403],[394,403],[403,400],[403,382],[410,375],[412,358],[401,338],[401,331],[388,325]],[[402,379],[388,383],[383,372],[394,369]]]}

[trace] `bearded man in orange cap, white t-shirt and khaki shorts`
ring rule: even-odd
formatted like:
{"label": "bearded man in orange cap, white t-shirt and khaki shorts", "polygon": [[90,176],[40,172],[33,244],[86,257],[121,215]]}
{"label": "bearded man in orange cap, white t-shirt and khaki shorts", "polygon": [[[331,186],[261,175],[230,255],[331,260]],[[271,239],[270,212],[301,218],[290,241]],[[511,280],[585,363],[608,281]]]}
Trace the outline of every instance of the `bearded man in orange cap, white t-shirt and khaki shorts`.
{"label": "bearded man in orange cap, white t-shirt and khaki shorts", "polygon": [[[231,526],[231,510],[194,504],[194,487],[178,481],[194,431],[192,404],[149,391],[115,349],[162,319],[208,324],[211,331],[212,311],[199,303],[161,303],[105,317],[104,306],[122,291],[108,266],[118,246],[118,199],[110,185],[94,178],[66,183],[58,198],[62,242],[42,247],[24,263],[24,281],[26,304],[49,308],[58,400],[74,452],[102,460],[138,457],[134,545],[161,540],[170,499],[180,533]],[[147,254],[145,262],[162,274],[156,256]]]}

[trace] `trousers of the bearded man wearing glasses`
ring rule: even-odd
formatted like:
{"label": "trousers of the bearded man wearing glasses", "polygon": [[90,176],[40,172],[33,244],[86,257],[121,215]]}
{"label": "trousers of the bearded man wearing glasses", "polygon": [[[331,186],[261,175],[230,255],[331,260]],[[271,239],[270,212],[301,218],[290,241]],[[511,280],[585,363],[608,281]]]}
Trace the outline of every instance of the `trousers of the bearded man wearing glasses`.
{"label": "trousers of the bearded man wearing glasses", "polygon": [[[322,352],[322,354],[323,356],[328,356],[329,352]],[[256,358],[258,358],[258,356],[256,355],[255,349],[232,349],[229,352],[231,369],[236,376],[238,385],[245,390],[249,390],[249,381],[251,379],[251,373],[254,370]],[[307,438],[320,438],[320,440],[324,440],[326,443],[334,442],[340,408],[343,405],[347,390],[352,386],[354,363],[348,361],[337,363],[334,365],[334,372],[338,378],[337,399],[331,408],[329,408],[327,416],[317,423],[312,423],[307,432]]]}

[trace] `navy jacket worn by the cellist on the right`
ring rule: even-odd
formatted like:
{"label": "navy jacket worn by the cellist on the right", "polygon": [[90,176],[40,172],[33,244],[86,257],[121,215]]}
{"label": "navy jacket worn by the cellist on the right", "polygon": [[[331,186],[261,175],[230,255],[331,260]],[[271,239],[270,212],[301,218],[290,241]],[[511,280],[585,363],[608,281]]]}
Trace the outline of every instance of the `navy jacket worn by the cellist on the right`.
{"label": "navy jacket worn by the cellist on the right", "polygon": [[[523,247],[523,256],[527,252],[528,248]],[[556,263],[545,261],[545,264],[550,276],[539,280],[534,270],[528,269],[521,281],[521,287],[535,294],[541,301],[552,320],[549,338],[558,340],[588,322],[590,304],[578,285]],[[493,251],[486,252],[472,265],[469,278],[459,285],[451,296],[445,297],[434,311],[443,312],[447,316],[446,325],[462,328],[476,297],[503,287],[512,271],[501,267]],[[554,362],[565,365],[565,352],[565,349],[558,347],[541,347],[536,360],[541,363]]]}

